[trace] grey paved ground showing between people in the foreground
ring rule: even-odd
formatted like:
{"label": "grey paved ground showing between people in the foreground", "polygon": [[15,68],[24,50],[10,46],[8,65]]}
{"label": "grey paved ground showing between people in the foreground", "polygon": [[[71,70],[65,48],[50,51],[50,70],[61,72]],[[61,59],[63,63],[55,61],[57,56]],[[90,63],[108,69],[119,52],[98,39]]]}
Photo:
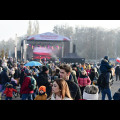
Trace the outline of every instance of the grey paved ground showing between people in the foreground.
{"label": "grey paved ground showing between people in the foreground", "polygon": [[[113,82],[113,85],[111,87],[111,91],[112,91],[112,96],[114,95],[114,93],[120,88],[120,81],[115,81]],[[19,88],[17,88],[17,90],[19,91]],[[5,97],[3,96],[1,100],[5,100]],[[18,97],[13,97],[13,100],[21,100],[20,96]],[[99,100],[101,100],[101,93],[99,94]],[[106,100],[108,100],[108,97],[106,96]]]}

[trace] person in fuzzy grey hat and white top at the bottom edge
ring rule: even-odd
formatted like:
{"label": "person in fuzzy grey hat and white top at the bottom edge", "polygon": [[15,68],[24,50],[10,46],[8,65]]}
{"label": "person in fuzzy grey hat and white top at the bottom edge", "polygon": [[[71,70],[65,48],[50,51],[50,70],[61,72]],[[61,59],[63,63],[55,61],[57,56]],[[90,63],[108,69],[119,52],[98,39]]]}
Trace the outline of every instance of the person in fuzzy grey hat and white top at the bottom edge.
{"label": "person in fuzzy grey hat and white top at the bottom edge", "polygon": [[95,85],[87,85],[83,91],[83,100],[98,100],[98,87]]}

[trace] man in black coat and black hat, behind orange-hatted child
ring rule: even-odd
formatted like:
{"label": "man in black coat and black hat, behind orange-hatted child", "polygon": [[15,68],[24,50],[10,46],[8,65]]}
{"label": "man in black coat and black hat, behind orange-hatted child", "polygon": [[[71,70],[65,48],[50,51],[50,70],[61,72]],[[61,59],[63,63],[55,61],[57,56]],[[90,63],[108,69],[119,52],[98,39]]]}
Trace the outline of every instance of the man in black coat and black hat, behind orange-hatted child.
{"label": "man in black coat and black hat, behind orange-hatted child", "polygon": [[39,73],[39,76],[37,78],[38,88],[40,86],[45,86],[47,97],[50,96],[52,90],[52,87],[50,86],[51,81],[49,80],[48,74],[49,74],[49,69],[46,66],[43,66],[42,71]]}

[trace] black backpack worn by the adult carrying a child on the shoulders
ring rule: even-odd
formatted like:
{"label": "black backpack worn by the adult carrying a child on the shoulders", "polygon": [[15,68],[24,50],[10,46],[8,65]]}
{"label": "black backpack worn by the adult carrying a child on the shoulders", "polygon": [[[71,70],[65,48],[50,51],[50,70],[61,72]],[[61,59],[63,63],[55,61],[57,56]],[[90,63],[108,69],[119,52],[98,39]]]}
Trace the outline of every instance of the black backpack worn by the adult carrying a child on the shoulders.
{"label": "black backpack worn by the adult carrying a child on the shoulders", "polygon": [[105,86],[106,86],[106,74],[101,74],[98,77],[97,85],[101,88],[105,88]]}

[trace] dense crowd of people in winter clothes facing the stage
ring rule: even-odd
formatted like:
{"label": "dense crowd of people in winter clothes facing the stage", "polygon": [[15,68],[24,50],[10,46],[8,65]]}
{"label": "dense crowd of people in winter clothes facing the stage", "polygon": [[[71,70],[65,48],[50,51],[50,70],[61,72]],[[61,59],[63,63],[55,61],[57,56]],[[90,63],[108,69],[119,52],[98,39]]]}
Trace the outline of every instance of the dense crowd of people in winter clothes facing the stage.
{"label": "dense crowd of people in winter clothes facing the stage", "polygon": [[[0,98],[13,100],[101,100],[120,99],[120,90],[113,96],[111,86],[120,66],[105,56],[100,64],[42,63],[25,66],[13,58],[0,58]],[[18,90],[19,88],[19,90]]]}

